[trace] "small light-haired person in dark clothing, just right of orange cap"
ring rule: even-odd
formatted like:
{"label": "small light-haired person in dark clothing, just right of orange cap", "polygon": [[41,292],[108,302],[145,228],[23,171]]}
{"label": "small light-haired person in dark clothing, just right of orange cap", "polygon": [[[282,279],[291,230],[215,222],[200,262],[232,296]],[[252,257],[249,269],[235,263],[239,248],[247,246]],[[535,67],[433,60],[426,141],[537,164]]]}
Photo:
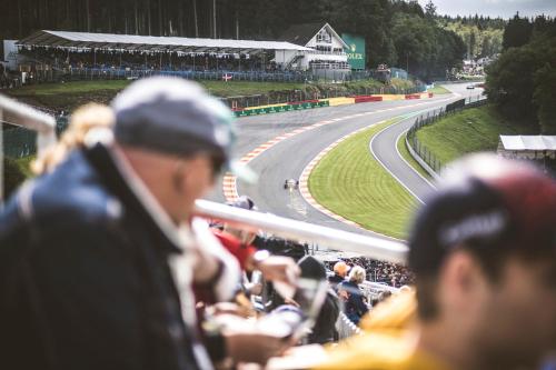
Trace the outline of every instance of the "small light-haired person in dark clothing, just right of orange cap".
{"label": "small light-haired person in dark clothing, just right of orange cap", "polygon": [[365,281],[365,269],[356,266],[349,271],[348,280],[338,286],[338,294],[345,301],[344,312],[351,322],[359,323],[369,308],[365,302],[359,284]]}

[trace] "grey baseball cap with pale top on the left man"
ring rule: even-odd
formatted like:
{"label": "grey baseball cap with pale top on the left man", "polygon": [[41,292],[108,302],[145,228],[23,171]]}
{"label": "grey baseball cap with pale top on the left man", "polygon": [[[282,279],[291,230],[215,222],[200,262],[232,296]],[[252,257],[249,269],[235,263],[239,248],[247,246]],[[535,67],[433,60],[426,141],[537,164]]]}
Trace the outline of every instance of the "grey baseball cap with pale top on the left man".
{"label": "grey baseball cap with pale top on the left man", "polygon": [[153,77],[131,83],[111,103],[119,143],[177,157],[210,154],[242,180],[256,176],[231,159],[236,139],[231,111],[198,83]]}

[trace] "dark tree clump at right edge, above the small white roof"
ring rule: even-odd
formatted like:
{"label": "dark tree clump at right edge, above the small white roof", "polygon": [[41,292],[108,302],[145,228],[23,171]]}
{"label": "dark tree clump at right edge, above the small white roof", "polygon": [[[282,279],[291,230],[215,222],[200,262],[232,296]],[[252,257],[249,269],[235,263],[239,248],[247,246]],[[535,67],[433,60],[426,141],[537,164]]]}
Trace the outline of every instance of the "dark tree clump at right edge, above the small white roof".
{"label": "dark tree clump at right edge, above the small white roof", "polygon": [[556,134],[556,19],[516,14],[504,30],[504,52],[487,69],[487,93],[508,116]]}

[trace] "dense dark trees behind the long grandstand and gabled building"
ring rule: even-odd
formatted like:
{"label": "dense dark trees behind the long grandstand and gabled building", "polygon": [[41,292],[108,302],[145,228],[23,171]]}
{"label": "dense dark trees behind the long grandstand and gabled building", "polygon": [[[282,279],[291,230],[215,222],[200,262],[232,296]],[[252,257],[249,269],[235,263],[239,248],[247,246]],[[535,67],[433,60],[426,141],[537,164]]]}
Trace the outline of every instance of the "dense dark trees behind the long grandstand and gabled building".
{"label": "dense dark trees behind the long grandstand and gabled building", "polygon": [[289,26],[328,21],[365,37],[367,66],[409,67],[445,76],[465,44],[416,0],[12,0],[0,11],[0,37],[40,29],[153,36],[275,39]]}

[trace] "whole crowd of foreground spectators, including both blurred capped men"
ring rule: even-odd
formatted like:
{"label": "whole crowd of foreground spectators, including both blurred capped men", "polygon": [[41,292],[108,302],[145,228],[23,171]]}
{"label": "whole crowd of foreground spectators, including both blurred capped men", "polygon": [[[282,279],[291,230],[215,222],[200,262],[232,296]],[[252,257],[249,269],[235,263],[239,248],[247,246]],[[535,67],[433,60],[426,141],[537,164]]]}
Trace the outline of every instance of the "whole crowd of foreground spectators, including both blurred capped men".
{"label": "whole crowd of foreground spectators, including both blurred capped men", "polygon": [[[72,114],[0,210],[6,368],[549,366],[553,179],[488,154],[456,162],[417,213],[408,269],[354,258],[327,277],[306,246],[198,216],[225,169],[252,181],[231,158],[231,120],[197,84],[161,77]],[[256,211],[247,197],[229,206]],[[411,287],[369,302],[366,279]],[[300,346],[338,341],[340,310],[361,334]]]}

